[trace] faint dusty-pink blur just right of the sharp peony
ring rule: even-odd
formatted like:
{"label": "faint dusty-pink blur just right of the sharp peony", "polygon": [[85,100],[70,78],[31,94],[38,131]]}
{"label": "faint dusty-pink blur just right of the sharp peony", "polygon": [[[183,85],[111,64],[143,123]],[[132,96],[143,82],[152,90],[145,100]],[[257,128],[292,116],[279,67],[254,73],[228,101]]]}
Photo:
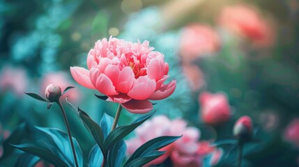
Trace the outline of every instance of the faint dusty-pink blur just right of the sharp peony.
{"label": "faint dusty-pink blur just right of the sharp peony", "polygon": [[197,65],[183,64],[182,70],[193,91],[199,90],[206,84],[204,74]]}

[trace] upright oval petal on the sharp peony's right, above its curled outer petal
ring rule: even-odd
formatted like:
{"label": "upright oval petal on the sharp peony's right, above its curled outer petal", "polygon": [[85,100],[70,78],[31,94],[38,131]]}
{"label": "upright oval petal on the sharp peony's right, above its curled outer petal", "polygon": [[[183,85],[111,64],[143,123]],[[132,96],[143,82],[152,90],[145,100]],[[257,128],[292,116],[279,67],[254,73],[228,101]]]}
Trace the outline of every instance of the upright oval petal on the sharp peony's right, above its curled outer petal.
{"label": "upright oval petal on the sharp peony's right, above its curled outer petal", "polygon": [[159,81],[164,76],[164,62],[159,61],[156,58],[153,58],[148,64],[146,73],[150,79],[155,79]]}

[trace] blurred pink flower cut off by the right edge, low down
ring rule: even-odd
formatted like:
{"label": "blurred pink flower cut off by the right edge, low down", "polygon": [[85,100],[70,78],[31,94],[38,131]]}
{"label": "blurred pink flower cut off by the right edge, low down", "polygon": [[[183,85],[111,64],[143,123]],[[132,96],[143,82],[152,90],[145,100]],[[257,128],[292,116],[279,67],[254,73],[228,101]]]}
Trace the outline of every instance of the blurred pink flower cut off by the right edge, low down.
{"label": "blurred pink flower cut off by the right edge, low down", "polygon": [[284,139],[299,148],[299,118],[293,119],[286,127],[284,131]]}

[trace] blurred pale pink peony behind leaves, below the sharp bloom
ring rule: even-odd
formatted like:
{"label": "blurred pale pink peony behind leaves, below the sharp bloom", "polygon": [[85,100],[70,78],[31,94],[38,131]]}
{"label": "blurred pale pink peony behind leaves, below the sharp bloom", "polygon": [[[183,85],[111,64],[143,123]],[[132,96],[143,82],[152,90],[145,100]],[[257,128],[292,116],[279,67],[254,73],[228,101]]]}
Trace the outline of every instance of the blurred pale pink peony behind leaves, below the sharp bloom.
{"label": "blurred pale pink peony behind leaves, below the sharp bloom", "polygon": [[[128,154],[133,154],[137,148],[158,136],[183,136],[167,145],[161,150],[167,151],[164,155],[151,161],[147,165],[161,164],[167,157],[170,157],[174,166],[201,166],[206,155],[213,153],[215,148],[210,143],[199,141],[200,132],[195,127],[187,127],[185,120],[169,120],[166,116],[155,116],[153,119],[144,122],[137,127],[136,137],[131,138],[127,143]],[[215,162],[217,163],[217,158]]]}

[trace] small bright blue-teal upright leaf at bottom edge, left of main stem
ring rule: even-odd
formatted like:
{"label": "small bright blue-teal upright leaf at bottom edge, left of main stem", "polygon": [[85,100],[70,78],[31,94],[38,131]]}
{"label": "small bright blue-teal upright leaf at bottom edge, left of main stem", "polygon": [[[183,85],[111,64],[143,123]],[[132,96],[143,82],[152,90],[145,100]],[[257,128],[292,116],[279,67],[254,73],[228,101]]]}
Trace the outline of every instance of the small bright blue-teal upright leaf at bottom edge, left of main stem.
{"label": "small bright blue-teal upright leaf at bottom edge, left of main stem", "polygon": [[93,146],[89,152],[89,166],[102,166],[103,159],[100,147],[98,145]]}

